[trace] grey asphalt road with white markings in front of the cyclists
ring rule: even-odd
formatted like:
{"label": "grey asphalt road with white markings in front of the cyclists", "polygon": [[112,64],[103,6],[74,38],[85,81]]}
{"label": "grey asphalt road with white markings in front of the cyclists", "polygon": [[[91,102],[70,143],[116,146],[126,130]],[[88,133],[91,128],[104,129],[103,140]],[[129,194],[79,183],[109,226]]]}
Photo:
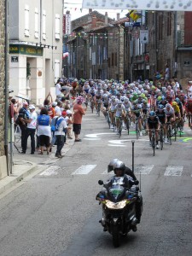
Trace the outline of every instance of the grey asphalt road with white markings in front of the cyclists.
{"label": "grey asphalt road with white markings in front of the cyclists", "polygon": [[[96,113],[88,112],[82,127],[82,143],[0,200],[0,255],[191,255],[191,131],[153,156],[148,137],[136,140],[123,131],[119,141]],[[113,158],[131,166],[132,139],[138,179],[142,173],[143,216],[137,232],[113,248],[98,223],[97,181],[112,175],[106,170]]]}

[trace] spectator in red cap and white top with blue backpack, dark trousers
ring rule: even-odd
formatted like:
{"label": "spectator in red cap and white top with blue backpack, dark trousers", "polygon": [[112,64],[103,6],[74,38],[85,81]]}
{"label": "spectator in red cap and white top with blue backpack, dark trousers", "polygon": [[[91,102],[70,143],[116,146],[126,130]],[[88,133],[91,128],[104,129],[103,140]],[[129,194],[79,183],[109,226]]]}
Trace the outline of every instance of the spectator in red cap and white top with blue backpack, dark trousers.
{"label": "spectator in red cap and white top with blue backpack, dark trousers", "polygon": [[66,116],[66,111],[62,111],[61,116],[56,120],[55,125],[55,137],[56,137],[56,153],[55,157],[61,158],[61,149],[64,146],[65,143],[65,137],[66,137],[66,131],[67,131],[67,123],[64,119],[64,116]]}

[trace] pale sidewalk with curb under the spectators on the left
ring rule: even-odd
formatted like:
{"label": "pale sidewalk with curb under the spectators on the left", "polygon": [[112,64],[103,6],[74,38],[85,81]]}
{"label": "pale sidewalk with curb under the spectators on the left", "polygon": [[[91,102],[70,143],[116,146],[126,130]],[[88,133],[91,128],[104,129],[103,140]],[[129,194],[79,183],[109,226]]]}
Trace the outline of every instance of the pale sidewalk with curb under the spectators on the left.
{"label": "pale sidewalk with curb under the spectators on the left", "polygon": [[[28,148],[26,154],[20,154],[13,144],[13,162],[12,166],[12,174],[8,177],[4,177],[0,180],[0,195],[13,188],[17,183],[20,183],[25,177],[32,175],[32,173],[43,172],[50,165],[55,164],[58,158],[55,158],[55,149],[52,148],[52,151],[49,155],[44,153],[44,155],[38,154],[30,154],[30,139],[28,140]],[[66,154],[67,151],[72,148],[74,143],[74,139],[67,139],[67,143],[64,145],[62,149],[62,154]],[[20,142],[15,143],[16,147],[21,151]]]}

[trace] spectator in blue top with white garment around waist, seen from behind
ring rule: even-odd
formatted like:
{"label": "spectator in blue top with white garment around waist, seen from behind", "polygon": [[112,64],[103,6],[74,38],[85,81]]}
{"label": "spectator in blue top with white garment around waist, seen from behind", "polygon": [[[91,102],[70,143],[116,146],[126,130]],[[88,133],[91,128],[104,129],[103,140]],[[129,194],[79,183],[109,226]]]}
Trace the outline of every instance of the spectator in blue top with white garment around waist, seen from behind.
{"label": "spectator in blue top with white garment around waist, seen from behind", "polygon": [[47,150],[47,154],[49,154],[49,140],[51,137],[50,131],[50,117],[48,114],[48,110],[46,108],[42,108],[40,115],[38,116],[38,137],[40,143],[40,152],[39,154],[44,154],[44,145]]}

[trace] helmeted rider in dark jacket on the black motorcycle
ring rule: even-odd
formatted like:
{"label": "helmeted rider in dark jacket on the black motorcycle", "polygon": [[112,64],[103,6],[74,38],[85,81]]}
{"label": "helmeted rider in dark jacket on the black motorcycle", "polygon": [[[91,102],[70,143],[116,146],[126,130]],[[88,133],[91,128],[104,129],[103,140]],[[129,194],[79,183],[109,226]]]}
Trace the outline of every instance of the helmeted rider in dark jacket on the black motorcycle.
{"label": "helmeted rider in dark jacket on the black motorcycle", "polygon": [[[123,182],[125,184],[126,189],[131,189],[131,186],[134,184],[134,181],[137,181],[137,178],[135,177],[134,173],[131,172],[131,169],[125,166],[125,163],[118,159],[113,159],[108,164],[108,172],[114,172],[114,176],[111,177],[107,183],[105,183],[105,187],[102,189],[102,194],[107,193],[107,189],[110,188],[115,181],[117,177],[124,177]],[[97,195],[96,195],[97,198]],[[142,196],[137,196],[136,201],[136,218],[137,218],[137,224],[140,223],[141,215],[142,215],[142,207],[143,207],[143,199]],[[106,215],[105,210],[102,208],[102,220],[100,221],[102,223],[103,231],[107,231],[107,228],[105,226],[106,221]],[[137,231],[137,226],[134,226],[132,228],[133,231]]]}

